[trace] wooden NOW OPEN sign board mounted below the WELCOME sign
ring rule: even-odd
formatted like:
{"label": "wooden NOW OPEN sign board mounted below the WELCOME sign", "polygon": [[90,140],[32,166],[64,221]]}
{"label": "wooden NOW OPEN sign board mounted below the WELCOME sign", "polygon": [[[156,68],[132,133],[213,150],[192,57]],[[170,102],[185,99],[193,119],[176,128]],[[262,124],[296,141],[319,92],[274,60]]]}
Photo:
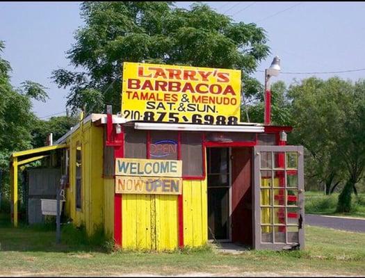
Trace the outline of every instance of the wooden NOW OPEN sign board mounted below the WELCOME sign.
{"label": "wooden NOW OPEN sign board mounted below the WELCOME sign", "polygon": [[182,179],[171,177],[115,177],[115,193],[181,194]]}

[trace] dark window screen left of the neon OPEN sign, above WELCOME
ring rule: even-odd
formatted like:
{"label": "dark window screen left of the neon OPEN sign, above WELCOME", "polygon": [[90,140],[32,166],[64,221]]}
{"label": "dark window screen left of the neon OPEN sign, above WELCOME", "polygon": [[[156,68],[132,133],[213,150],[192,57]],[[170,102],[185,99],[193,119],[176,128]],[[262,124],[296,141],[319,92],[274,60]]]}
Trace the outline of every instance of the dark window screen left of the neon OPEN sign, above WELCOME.
{"label": "dark window screen left of the neon OPEN sign, above WELCOME", "polygon": [[124,157],[147,158],[147,132],[124,126]]}

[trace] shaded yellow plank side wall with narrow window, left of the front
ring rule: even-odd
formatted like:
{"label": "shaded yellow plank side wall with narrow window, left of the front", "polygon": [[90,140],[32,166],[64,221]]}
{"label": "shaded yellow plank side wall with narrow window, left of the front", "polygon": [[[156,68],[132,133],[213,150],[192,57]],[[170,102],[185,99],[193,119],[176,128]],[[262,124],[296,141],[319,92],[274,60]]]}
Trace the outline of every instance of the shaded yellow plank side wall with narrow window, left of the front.
{"label": "shaded yellow plank side wall with narrow window, left of the front", "polygon": [[[81,210],[76,209],[76,142],[81,142]],[[70,187],[66,190],[66,213],[77,226],[92,234],[104,222],[103,129],[91,122],[81,125],[67,138],[70,147]]]}

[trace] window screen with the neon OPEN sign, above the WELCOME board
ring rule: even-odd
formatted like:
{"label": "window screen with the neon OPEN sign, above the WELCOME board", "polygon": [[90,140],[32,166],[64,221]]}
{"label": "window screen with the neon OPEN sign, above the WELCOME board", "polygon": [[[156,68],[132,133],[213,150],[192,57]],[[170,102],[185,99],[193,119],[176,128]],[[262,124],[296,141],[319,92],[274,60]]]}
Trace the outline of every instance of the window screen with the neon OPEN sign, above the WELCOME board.
{"label": "window screen with the neon OPEN sign, above the WELCOME board", "polygon": [[177,132],[151,131],[149,158],[177,160]]}

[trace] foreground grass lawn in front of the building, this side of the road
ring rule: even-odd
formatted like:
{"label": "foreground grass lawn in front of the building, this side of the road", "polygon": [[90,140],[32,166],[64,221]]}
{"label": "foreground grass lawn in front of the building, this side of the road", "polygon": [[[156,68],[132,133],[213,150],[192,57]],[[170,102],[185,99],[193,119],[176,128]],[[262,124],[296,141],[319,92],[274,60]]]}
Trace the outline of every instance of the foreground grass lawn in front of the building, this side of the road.
{"label": "foreground grass lawn in front of the building, this side of the road", "polygon": [[[233,255],[205,246],[169,253],[110,252],[80,238],[82,229],[67,227],[62,243],[57,245],[51,227],[15,229],[0,218],[0,275],[365,275],[365,234],[309,226],[305,229],[304,251]],[[76,233],[74,240],[70,240],[72,233]]]}

